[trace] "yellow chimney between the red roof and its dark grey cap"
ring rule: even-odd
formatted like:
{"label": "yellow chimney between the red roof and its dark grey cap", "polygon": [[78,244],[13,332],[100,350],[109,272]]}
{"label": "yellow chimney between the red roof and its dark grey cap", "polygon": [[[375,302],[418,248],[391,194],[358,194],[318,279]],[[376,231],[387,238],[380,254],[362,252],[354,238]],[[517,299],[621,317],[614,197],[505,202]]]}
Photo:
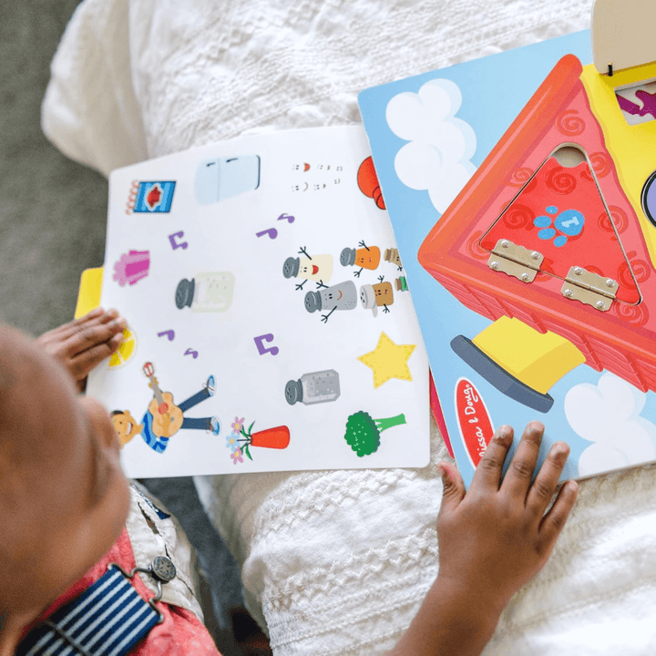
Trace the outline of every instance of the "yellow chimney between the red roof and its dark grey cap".
{"label": "yellow chimney between the red roof and its dark grey cap", "polygon": [[564,337],[538,333],[526,323],[505,316],[472,342],[508,374],[540,394],[547,394],[560,378],[585,362],[585,356]]}

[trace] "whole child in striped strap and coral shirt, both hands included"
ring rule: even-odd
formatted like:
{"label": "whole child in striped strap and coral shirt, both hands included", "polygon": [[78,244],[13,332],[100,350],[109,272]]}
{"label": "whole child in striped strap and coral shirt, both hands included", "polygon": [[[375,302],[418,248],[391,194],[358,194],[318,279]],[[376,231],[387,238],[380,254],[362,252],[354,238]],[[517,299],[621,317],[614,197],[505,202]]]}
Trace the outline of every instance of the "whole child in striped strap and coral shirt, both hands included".
{"label": "whole child in striped strap and coral shirt, both hands included", "polygon": [[[179,524],[124,477],[108,411],[76,395],[124,326],[97,310],[35,342],[0,325],[0,656],[218,653]],[[439,574],[391,654],[479,654],[542,568],[577,496],[569,482],[549,507],[564,443],[532,480],[543,431],[527,426],[503,483],[509,426],[467,492],[440,464]]]}

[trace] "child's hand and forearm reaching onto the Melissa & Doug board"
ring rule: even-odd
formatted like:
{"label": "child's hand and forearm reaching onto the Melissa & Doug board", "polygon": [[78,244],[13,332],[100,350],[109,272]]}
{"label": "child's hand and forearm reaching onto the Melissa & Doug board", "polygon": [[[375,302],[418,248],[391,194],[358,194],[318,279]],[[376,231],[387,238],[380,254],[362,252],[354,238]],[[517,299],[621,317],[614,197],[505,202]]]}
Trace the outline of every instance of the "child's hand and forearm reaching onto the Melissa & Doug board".
{"label": "child's hand and forearm reaching onto the Melissa & Doug board", "polygon": [[531,483],[544,433],[528,424],[503,483],[513,430],[502,426],[465,492],[455,467],[441,463],[437,518],[439,573],[410,628],[390,654],[477,656],[512,595],[547,561],[574,506],[578,486],[563,485],[552,507],[569,446],[556,442]]}

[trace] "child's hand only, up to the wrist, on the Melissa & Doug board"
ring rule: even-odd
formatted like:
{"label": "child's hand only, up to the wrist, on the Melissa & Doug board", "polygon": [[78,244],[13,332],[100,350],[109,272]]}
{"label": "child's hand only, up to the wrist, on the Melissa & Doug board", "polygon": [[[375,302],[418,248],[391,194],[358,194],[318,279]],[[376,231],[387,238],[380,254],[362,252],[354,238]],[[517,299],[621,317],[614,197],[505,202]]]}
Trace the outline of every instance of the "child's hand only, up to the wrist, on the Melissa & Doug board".
{"label": "child's hand only, up to the wrist, on the Melissa & Doug board", "polygon": [[569,481],[553,498],[569,456],[556,442],[533,483],[544,425],[531,422],[499,485],[513,430],[501,426],[487,446],[465,494],[457,471],[443,465],[444,497],[437,518],[439,578],[461,589],[476,590],[500,613],[512,595],[547,562],[577,497]]}

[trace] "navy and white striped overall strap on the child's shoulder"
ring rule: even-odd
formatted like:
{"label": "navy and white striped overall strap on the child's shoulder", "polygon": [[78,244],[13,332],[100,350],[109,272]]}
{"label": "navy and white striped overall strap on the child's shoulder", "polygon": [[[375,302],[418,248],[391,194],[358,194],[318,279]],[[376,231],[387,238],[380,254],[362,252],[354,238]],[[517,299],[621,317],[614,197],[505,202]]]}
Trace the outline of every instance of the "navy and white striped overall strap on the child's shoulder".
{"label": "navy and white striped overall strap on the child's shoulder", "polygon": [[110,567],[79,597],[31,630],[15,654],[123,656],[160,617],[121,571]]}

